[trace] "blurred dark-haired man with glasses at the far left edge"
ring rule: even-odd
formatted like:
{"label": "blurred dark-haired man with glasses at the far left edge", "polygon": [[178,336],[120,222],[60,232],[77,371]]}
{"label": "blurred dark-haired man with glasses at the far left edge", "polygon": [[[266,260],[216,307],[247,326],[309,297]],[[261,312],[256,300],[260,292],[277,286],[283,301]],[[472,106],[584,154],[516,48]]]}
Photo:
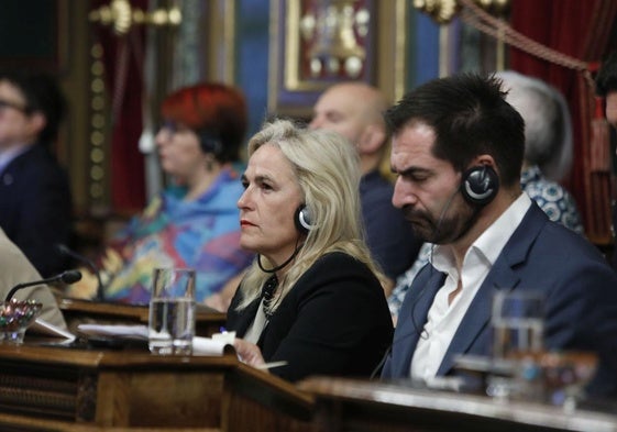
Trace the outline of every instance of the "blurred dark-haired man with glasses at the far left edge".
{"label": "blurred dark-haired man with glasses at the far left edge", "polygon": [[53,154],[66,102],[55,77],[0,71],[0,228],[43,277],[65,270],[73,202]]}

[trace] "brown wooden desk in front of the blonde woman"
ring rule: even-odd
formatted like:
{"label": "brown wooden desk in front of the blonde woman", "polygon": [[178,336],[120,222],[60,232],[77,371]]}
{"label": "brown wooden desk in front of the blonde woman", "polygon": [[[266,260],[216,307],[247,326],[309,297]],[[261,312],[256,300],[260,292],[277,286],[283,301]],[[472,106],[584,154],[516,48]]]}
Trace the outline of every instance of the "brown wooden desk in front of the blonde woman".
{"label": "brown wooden desk in front of the blonde woman", "polygon": [[312,432],[312,399],[221,357],[0,345],[0,430]]}

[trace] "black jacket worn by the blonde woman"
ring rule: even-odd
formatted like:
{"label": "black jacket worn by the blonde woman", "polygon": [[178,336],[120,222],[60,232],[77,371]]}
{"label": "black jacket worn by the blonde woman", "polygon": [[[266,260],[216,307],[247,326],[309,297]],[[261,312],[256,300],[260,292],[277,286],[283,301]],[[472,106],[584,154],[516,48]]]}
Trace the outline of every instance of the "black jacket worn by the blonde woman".
{"label": "black jacket worn by the blonde woman", "polygon": [[[238,312],[240,301],[238,290],[227,329],[242,337],[260,299]],[[272,373],[291,381],[308,375],[367,377],[389,346],[392,334],[392,318],[378,280],[359,261],[331,253],[298,279],[257,345],[266,362],[288,362]]]}

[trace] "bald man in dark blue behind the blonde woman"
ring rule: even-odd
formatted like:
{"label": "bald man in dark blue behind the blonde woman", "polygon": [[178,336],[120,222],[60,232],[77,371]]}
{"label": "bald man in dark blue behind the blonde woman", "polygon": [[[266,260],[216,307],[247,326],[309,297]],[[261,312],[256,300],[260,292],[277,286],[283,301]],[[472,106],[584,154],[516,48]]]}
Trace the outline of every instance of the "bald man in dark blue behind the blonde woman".
{"label": "bald man in dark blue behind the blonde woman", "polygon": [[313,107],[310,129],[326,129],[346,137],[360,155],[360,198],[366,243],[392,285],[416,259],[421,242],[392,203],[393,184],[379,171],[387,154],[383,112],[385,96],[364,82],[343,82],[326,90]]}

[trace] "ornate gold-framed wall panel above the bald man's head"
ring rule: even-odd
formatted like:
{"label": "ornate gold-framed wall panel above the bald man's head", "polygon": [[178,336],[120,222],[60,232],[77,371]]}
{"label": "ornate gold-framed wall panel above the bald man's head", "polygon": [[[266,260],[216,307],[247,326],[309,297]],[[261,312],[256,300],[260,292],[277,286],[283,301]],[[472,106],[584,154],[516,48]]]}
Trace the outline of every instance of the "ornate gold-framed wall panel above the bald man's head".
{"label": "ornate gold-framed wall panel above the bald man's head", "polygon": [[338,81],[375,82],[376,0],[272,0],[268,110],[306,118]]}

